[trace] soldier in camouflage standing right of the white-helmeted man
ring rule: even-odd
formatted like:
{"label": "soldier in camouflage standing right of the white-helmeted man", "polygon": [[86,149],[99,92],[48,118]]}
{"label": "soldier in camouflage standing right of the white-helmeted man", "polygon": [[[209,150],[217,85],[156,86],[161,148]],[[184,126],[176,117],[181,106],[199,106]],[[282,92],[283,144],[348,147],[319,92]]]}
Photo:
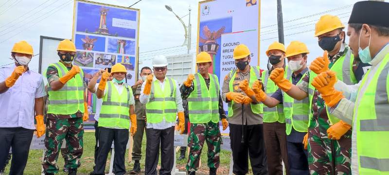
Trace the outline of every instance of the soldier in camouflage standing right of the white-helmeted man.
{"label": "soldier in camouflage standing right of the white-helmeted man", "polygon": [[212,66],[211,55],[201,52],[196,57],[196,64],[199,73],[189,74],[188,79],[180,88],[182,99],[188,100],[191,123],[188,137],[190,150],[186,170],[189,175],[195,175],[204,141],[207,141],[210,175],[216,175],[222,142],[219,120],[222,121],[223,130],[225,130],[228,126],[227,115],[223,109],[219,79],[216,75],[208,73],[208,69]]}

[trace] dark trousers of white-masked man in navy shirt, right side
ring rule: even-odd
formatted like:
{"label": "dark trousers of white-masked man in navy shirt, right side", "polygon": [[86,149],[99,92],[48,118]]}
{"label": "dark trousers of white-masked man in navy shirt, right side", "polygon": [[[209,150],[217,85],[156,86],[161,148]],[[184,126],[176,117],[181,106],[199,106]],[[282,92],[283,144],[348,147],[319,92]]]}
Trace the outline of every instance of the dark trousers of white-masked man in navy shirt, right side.
{"label": "dark trousers of white-masked man in navy shirt, right side", "polygon": [[308,152],[303,143],[288,141],[290,175],[309,175]]}

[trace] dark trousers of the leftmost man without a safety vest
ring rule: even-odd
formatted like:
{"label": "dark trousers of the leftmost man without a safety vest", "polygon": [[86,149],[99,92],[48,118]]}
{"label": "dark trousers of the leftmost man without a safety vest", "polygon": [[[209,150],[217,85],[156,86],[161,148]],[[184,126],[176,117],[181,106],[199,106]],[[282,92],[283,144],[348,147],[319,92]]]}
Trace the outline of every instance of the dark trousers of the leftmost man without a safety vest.
{"label": "dark trousers of the leftmost man without a safety vest", "polygon": [[10,147],[12,161],[10,175],[23,175],[34,130],[22,127],[0,128],[0,167],[4,167]]}

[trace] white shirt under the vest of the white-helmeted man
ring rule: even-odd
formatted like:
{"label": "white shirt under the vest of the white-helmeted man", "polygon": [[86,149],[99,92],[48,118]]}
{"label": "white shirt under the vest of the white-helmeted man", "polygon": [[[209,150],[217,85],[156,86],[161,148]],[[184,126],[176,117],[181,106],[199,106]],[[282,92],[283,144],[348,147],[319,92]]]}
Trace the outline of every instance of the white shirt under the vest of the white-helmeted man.
{"label": "white shirt under the vest of the white-helmeted man", "polygon": [[[160,88],[163,91],[163,89],[165,87],[165,83],[167,81],[167,78],[165,77],[163,82],[161,82],[156,77],[154,77],[153,78],[153,82],[154,81],[158,81],[159,86],[160,86]],[[141,95],[139,96],[139,101],[142,104],[147,104],[149,102],[149,99],[150,99],[150,95],[146,95],[146,94],[143,93],[143,89],[144,89],[145,85],[146,85],[146,82],[143,82],[142,88],[141,88]],[[177,81],[176,81],[176,105],[177,105],[177,112],[183,112],[184,111],[184,108],[182,107],[181,92],[179,91],[179,86],[178,86]],[[166,129],[166,128],[169,128],[169,127],[172,127],[172,126],[175,126],[175,125],[176,125],[176,122],[167,122],[165,120],[165,117],[163,117],[162,122],[160,122],[160,123],[147,123],[146,128]]]}

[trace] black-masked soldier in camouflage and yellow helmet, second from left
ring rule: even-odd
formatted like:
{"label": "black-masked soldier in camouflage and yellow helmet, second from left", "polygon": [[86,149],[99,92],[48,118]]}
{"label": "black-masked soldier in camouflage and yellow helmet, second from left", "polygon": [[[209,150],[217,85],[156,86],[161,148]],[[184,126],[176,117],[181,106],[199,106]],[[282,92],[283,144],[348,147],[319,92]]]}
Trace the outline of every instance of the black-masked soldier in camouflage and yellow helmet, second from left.
{"label": "black-masked soldier in camouflage and yellow helmet, second from left", "polygon": [[60,61],[49,65],[46,72],[49,83],[45,138],[47,152],[42,165],[45,175],[58,172],[58,152],[65,139],[69,149],[69,160],[65,167],[69,168],[69,175],[76,175],[83,153],[83,121],[88,120],[84,72],[71,64],[76,47],[69,39],[59,43],[57,52]]}

